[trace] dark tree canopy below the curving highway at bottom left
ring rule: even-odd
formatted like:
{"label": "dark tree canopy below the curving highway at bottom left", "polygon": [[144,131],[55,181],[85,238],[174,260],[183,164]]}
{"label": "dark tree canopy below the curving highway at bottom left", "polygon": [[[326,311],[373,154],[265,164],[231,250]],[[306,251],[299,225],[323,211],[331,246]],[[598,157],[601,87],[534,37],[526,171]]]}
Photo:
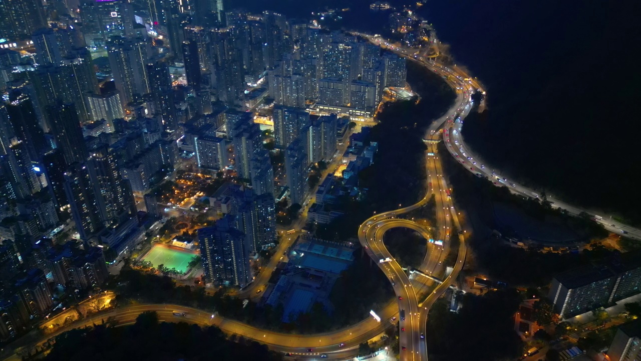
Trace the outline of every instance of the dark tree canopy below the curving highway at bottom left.
{"label": "dark tree canopy below the curving highway at bottom left", "polygon": [[113,360],[282,360],[258,342],[232,342],[215,327],[158,322],[155,312],[138,315],[130,326],[109,324],[76,329],[56,337],[46,361]]}

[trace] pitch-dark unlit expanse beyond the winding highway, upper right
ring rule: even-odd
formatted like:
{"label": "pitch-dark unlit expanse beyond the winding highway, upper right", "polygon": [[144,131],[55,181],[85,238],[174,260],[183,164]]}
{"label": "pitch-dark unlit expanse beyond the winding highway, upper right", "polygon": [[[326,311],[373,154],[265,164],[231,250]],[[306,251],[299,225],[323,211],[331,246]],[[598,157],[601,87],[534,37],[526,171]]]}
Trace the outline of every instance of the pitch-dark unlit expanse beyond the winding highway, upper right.
{"label": "pitch-dark unlit expanse beyond the winding highway, upper right", "polygon": [[[377,32],[387,14],[369,2],[235,4],[288,17],[349,7],[340,25]],[[487,114],[463,128],[475,152],[513,179],[641,224],[640,1],[429,0],[419,13],[488,91]]]}

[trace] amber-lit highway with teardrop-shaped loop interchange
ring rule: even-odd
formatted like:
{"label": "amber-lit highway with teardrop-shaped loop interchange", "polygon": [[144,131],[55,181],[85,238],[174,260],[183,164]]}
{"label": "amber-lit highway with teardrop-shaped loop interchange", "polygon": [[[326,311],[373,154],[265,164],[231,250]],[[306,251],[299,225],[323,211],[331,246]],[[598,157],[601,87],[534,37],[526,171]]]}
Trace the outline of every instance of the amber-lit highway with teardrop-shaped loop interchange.
{"label": "amber-lit highway with teardrop-shaped loop interchange", "polygon": [[[423,63],[426,64],[426,63]],[[451,79],[445,79],[445,82],[451,87],[456,89],[456,83]],[[463,92],[457,92],[457,99],[453,107],[446,113],[445,116],[437,119],[431,124],[426,132],[426,139],[433,139],[437,141],[440,137],[438,129],[447,121],[448,114],[456,111],[465,100],[469,98]],[[430,155],[435,154],[435,155]],[[92,326],[92,324],[100,323],[101,320],[108,317],[114,317],[119,325],[132,324],[135,322],[136,317],[146,311],[154,311],[158,313],[160,321],[169,322],[193,322],[201,326],[215,325],[221,328],[222,331],[228,334],[242,335],[247,339],[256,340],[263,344],[267,344],[271,349],[281,351],[283,353],[291,353],[292,357],[297,359],[306,358],[319,358],[320,356],[327,355],[331,359],[344,359],[353,357],[358,352],[358,346],[362,342],[367,342],[377,335],[383,333],[387,327],[387,322],[399,321],[399,327],[404,329],[399,333],[401,350],[401,360],[427,360],[426,349],[426,320],[431,305],[440,297],[445,290],[453,285],[458,272],[463,267],[465,260],[466,248],[463,235],[460,235],[460,245],[458,249],[458,258],[453,270],[449,276],[445,277],[443,283],[434,286],[435,282],[432,279],[415,276],[418,273],[413,273],[408,277],[406,270],[403,270],[401,265],[392,258],[387,248],[383,244],[383,234],[389,229],[395,227],[405,227],[417,231],[422,237],[429,239],[435,238],[443,240],[443,245],[435,245],[428,243],[428,252],[424,261],[419,267],[419,270],[424,274],[440,275],[444,272],[443,260],[447,256],[449,249],[449,239],[451,238],[450,231],[452,225],[461,229],[456,218],[454,206],[451,204],[450,194],[447,191],[447,184],[445,184],[444,176],[442,175],[442,167],[438,161],[438,154],[436,145],[431,144],[428,146],[426,152],[426,169],[428,179],[426,184],[426,195],[419,200],[419,202],[412,204],[408,207],[395,209],[374,215],[361,225],[358,230],[360,243],[363,245],[367,254],[376,261],[381,267],[383,272],[388,276],[392,282],[397,299],[388,304],[383,310],[378,311],[381,322],[377,322],[372,317],[354,324],[349,328],[342,330],[331,331],[317,335],[294,335],[287,333],[279,333],[274,331],[261,330],[254,328],[242,322],[225,319],[218,315],[212,315],[204,310],[197,310],[180,305],[171,304],[145,304],[138,306],[131,306],[128,308],[121,308],[111,312],[101,313],[99,315],[88,317],[83,321],[76,322],[67,328],[62,328],[54,333],[43,337],[39,343],[46,342],[46,340],[54,337],[71,328],[82,328],[84,326]],[[425,206],[429,198],[434,195],[436,200],[437,211],[437,224],[433,225],[431,233],[428,232],[426,226],[420,225],[413,220],[406,220],[396,218],[404,215],[415,209]],[[283,242],[288,243],[288,242]],[[288,245],[283,244],[279,247],[279,252],[287,249]],[[274,260],[278,260],[278,254],[274,256]],[[388,261],[385,261],[389,259]],[[380,262],[379,260],[384,260]],[[271,267],[269,263],[268,267]],[[271,272],[263,272],[269,274]],[[260,283],[264,281],[263,277],[257,279],[254,285],[247,290],[242,290],[238,294],[251,296],[254,290],[260,289]],[[428,294],[428,291],[431,292]],[[174,310],[185,312],[185,316],[177,316],[173,314]],[[405,319],[400,320],[399,310],[405,310]],[[309,350],[312,351],[309,351]],[[15,358],[16,355],[13,355]],[[10,358],[12,359],[12,358]]]}

